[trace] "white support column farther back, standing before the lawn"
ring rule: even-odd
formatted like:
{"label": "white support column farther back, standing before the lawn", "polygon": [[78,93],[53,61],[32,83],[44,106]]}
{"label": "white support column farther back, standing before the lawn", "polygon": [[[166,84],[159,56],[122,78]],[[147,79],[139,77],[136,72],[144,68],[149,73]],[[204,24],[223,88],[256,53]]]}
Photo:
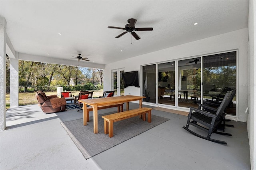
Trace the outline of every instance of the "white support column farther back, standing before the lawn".
{"label": "white support column farther back, standing before the lawn", "polygon": [[19,106],[19,59],[10,58],[10,107]]}

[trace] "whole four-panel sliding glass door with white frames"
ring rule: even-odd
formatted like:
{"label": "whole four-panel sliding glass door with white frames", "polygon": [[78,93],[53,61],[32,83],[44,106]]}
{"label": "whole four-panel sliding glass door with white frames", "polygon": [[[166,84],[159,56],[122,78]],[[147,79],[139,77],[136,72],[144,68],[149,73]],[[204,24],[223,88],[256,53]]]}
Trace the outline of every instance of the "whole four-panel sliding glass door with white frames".
{"label": "whole four-panel sliding glass door with white frames", "polygon": [[[144,101],[172,107],[198,107],[236,89],[237,51],[200,55],[142,66]],[[236,96],[225,110],[236,115]]]}

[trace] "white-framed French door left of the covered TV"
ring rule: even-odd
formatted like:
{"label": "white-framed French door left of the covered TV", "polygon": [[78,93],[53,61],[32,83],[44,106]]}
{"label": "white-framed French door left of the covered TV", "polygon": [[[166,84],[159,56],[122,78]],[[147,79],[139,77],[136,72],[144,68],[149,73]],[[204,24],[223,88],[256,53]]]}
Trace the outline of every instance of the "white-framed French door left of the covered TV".
{"label": "white-framed French door left of the covered TV", "polygon": [[124,69],[112,70],[112,91],[115,91],[115,96],[124,96],[122,73]]}

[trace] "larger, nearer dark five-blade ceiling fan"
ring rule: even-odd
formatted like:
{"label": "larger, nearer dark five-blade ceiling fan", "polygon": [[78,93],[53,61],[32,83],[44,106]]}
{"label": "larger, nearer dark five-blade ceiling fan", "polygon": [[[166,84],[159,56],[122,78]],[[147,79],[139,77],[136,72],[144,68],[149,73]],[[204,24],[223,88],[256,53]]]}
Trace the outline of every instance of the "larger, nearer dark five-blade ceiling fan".
{"label": "larger, nearer dark five-blade ceiling fan", "polygon": [[127,32],[130,32],[132,34],[132,36],[136,39],[136,40],[140,40],[140,37],[134,32],[134,31],[153,31],[152,27],[148,27],[148,28],[135,28],[135,24],[137,22],[136,19],[134,18],[130,18],[129,20],[127,20],[127,22],[129,24],[125,25],[125,28],[121,28],[121,27],[114,27],[114,26],[108,26],[108,28],[116,28],[116,29],[120,29],[120,30],[126,30],[125,32],[123,32],[122,34],[119,34],[118,36],[116,36],[116,38],[120,38],[121,36],[123,36],[124,34],[126,34]]}

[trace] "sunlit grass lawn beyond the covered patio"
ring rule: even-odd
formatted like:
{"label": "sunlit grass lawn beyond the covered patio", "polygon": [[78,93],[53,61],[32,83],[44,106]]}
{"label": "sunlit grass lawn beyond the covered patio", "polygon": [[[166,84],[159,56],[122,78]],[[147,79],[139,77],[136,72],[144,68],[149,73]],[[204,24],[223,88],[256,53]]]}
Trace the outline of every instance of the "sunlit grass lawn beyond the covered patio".
{"label": "sunlit grass lawn beyond the covered patio", "polygon": [[[79,91],[72,91],[72,95],[78,95]],[[48,95],[56,95],[57,92],[45,92]],[[103,90],[93,91],[92,97],[99,97],[103,95]],[[59,96],[60,97],[60,96]],[[10,94],[6,93],[6,109],[10,108]],[[36,92],[19,93],[19,105],[34,105],[38,104],[36,100]]]}

